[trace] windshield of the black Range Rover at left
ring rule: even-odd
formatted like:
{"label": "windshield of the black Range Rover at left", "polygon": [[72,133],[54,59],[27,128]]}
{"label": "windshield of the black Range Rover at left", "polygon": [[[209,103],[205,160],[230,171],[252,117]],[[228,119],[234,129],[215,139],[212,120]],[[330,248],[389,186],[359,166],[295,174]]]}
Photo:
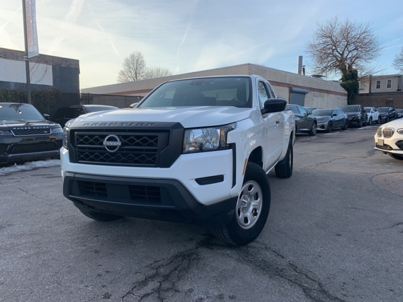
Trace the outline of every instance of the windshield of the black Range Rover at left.
{"label": "windshield of the black Range Rover at left", "polygon": [[32,105],[0,104],[0,122],[10,121],[44,121],[44,117]]}

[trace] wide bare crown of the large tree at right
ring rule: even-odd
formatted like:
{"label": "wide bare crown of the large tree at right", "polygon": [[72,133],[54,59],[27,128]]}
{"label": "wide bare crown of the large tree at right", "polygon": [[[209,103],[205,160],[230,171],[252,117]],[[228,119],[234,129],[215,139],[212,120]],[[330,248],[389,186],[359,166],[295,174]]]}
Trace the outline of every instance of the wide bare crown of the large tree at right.
{"label": "wide bare crown of the large tree at right", "polygon": [[360,77],[380,71],[375,60],[382,53],[381,43],[370,23],[334,17],[317,24],[306,52],[313,61],[313,72],[347,76],[357,70]]}

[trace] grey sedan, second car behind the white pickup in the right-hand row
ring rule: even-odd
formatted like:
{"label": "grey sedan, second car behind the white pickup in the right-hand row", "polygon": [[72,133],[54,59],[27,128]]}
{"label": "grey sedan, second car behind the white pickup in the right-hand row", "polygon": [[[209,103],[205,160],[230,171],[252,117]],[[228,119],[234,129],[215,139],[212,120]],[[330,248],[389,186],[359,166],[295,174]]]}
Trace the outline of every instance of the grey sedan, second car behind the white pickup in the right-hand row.
{"label": "grey sedan, second car behind the white pickup in the right-hand row", "polygon": [[316,117],[318,130],[331,132],[336,128],[347,130],[349,127],[347,114],[340,109],[316,109],[312,114]]}

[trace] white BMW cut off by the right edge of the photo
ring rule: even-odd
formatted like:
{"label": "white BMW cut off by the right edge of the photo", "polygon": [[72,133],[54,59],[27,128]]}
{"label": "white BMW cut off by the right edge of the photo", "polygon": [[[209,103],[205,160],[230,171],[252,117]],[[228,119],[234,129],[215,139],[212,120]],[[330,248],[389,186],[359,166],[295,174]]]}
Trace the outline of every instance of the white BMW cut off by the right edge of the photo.
{"label": "white BMW cut off by the right edge of the photo", "polygon": [[375,134],[375,150],[403,160],[403,119],[381,125]]}

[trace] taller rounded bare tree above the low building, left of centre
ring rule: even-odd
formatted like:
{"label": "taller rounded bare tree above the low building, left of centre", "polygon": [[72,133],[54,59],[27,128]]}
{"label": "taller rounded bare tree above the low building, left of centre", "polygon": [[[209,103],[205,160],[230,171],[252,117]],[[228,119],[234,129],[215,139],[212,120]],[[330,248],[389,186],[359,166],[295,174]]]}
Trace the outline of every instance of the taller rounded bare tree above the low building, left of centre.
{"label": "taller rounded bare tree above the low building, left of centre", "polygon": [[145,78],[147,73],[146,61],[140,51],[133,51],[124,58],[122,69],[116,79],[118,83],[139,81]]}

